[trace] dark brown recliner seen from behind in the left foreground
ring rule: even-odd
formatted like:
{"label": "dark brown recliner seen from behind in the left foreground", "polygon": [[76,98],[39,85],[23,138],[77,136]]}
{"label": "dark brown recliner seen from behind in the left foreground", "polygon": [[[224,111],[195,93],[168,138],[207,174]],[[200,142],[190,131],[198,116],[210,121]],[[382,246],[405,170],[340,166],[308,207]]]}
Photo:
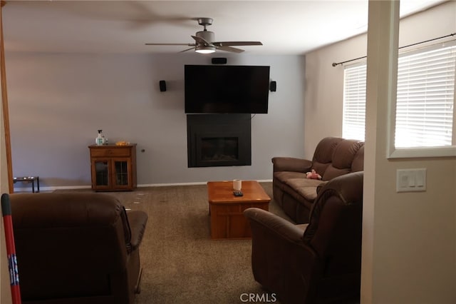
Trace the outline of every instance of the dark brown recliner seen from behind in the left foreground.
{"label": "dark brown recliner seen from behind in the left foreground", "polygon": [[132,304],[147,213],[102,193],[11,194],[22,303]]}

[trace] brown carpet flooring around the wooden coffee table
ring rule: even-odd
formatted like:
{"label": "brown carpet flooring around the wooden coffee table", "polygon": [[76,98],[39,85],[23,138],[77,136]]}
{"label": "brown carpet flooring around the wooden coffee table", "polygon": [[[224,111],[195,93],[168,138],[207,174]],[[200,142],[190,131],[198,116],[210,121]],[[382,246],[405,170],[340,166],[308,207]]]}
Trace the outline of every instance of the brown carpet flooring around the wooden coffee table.
{"label": "brown carpet flooring around the wooden coffee table", "polygon": [[[261,183],[272,198],[272,184]],[[141,293],[135,304],[271,303],[255,282],[252,240],[211,240],[206,185],[138,188],[108,193],[125,208],[147,212],[140,258]],[[271,201],[269,211],[286,218]],[[277,303],[277,302],[276,302]]]}

